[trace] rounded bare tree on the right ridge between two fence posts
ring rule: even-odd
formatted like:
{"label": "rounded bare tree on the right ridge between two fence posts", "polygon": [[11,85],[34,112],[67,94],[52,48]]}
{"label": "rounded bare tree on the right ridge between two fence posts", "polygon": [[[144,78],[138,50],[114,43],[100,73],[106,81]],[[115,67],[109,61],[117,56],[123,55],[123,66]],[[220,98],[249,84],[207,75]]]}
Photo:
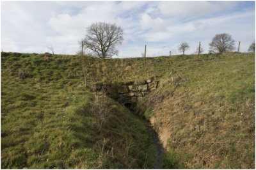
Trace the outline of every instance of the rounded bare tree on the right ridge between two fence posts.
{"label": "rounded bare tree on the right ridge between two fence posts", "polygon": [[234,43],[235,40],[227,33],[215,35],[214,38],[212,38],[212,42],[209,43],[209,52],[230,52],[234,50]]}

